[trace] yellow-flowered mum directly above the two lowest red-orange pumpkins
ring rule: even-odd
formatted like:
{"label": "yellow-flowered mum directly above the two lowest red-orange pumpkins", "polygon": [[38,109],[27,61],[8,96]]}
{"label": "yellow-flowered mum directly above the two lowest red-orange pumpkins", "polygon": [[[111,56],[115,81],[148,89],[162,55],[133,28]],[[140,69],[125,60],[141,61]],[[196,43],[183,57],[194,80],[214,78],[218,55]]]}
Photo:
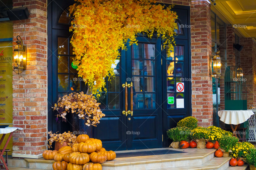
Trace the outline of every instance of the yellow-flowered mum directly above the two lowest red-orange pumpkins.
{"label": "yellow-flowered mum directly above the two lowest red-orange pumpkins", "polygon": [[245,157],[246,154],[249,153],[249,149],[255,148],[253,144],[249,142],[238,142],[236,145],[231,149],[232,153],[229,155],[232,157]]}

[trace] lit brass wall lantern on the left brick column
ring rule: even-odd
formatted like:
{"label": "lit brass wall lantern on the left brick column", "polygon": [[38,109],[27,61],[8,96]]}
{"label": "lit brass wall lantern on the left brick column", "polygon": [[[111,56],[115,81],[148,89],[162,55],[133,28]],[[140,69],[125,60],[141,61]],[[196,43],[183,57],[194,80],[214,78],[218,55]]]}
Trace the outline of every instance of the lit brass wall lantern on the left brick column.
{"label": "lit brass wall lantern on the left brick column", "polygon": [[[18,39],[19,37],[19,39]],[[17,45],[14,47],[13,53],[14,53],[14,59],[13,59],[13,70],[17,74],[21,74],[23,70],[26,70],[27,64],[26,64],[26,57],[27,57],[27,51],[26,46],[23,45],[21,37],[18,35],[17,37]]]}

